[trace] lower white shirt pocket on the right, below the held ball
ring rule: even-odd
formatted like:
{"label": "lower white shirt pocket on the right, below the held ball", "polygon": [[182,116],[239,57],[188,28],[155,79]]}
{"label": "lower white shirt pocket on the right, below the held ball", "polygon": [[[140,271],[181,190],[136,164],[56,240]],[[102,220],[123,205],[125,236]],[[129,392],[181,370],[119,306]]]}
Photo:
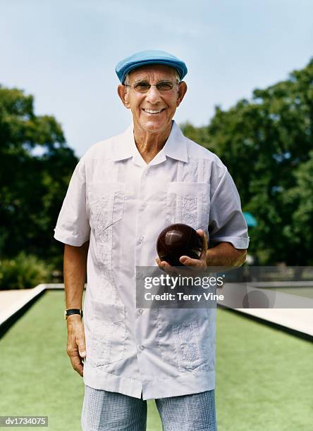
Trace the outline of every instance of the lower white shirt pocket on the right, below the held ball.
{"label": "lower white shirt pocket on the right, below the held ball", "polygon": [[207,308],[158,308],[157,326],[162,361],[179,371],[209,368]]}

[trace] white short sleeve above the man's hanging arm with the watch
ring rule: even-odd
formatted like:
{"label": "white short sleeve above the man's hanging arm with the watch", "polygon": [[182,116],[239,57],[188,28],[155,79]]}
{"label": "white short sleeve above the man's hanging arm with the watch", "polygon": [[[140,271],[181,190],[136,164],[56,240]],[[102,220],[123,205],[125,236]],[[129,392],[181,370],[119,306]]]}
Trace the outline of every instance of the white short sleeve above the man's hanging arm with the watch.
{"label": "white short sleeve above the man's hanging arm with the watch", "polygon": [[80,159],[70,178],[66,197],[54,229],[54,238],[73,246],[81,246],[90,238],[83,159]]}

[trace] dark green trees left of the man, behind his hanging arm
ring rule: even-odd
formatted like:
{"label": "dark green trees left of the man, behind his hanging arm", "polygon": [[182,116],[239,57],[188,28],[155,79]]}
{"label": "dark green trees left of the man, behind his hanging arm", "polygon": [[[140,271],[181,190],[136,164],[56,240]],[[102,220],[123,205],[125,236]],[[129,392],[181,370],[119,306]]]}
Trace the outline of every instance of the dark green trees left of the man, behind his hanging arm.
{"label": "dark green trees left of the man, behind his hanging arm", "polygon": [[1,86],[0,157],[1,258],[23,250],[61,268],[54,227],[78,158],[55,118],[35,115],[32,96]]}

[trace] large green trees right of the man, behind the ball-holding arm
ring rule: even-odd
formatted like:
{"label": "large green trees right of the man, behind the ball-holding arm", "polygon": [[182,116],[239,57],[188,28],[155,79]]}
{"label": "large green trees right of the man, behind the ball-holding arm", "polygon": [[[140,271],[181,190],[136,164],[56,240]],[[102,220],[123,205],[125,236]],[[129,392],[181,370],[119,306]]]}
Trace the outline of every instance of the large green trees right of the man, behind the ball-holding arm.
{"label": "large green trees right of the man, behind the ball-holding arm", "polygon": [[228,167],[243,209],[258,221],[250,252],[259,262],[312,265],[313,59],[250,101],[217,106],[207,127],[183,130]]}

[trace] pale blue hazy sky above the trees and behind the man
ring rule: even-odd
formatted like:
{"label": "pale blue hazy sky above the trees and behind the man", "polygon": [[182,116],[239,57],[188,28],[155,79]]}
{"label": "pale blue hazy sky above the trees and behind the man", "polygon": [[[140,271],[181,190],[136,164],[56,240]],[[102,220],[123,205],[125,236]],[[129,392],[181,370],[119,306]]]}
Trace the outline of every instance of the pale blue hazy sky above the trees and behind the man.
{"label": "pale blue hazy sky above the trees and behind the man", "polygon": [[178,123],[207,125],[223,109],[286,80],[313,55],[312,0],[0,0],[0,85],[35,98],[81,157],[118,135],[130,111],[114,68],[144,49],[188,65]]}

